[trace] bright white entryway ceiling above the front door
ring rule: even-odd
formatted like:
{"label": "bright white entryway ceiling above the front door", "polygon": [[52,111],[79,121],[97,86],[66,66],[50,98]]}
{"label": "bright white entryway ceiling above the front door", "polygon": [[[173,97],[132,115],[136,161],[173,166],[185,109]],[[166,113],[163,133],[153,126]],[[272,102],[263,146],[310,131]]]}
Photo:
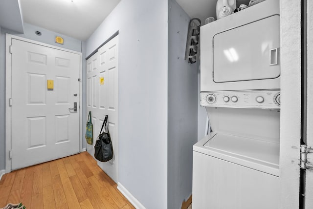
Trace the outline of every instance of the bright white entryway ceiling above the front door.
{"label": "bright white entryway ceiling above the front door", "polygon": [[20,0],[24,22],[85,41],[120,0]]}

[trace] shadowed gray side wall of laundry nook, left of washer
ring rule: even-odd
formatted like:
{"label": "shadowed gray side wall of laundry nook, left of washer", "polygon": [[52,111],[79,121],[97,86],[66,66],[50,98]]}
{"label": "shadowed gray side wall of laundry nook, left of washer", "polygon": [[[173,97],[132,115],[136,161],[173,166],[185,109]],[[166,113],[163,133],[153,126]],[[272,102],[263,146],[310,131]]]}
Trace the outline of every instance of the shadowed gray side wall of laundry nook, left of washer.
{"label": "shadowed gray side wall of laundry nook, left of washer", "polygon": [[190,18],[169,0],[168,209],[180,209],[192,193],[192,146],[197,140],[198,63],[184,60]]}

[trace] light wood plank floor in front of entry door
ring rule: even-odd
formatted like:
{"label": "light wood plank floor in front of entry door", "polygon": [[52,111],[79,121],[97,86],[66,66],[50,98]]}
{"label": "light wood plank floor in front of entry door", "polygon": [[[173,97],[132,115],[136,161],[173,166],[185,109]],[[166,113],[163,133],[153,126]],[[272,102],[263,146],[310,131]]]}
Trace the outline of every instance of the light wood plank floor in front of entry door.
{"label": "light wood plank floor in front of entry door", "polygon": [[0,208],[134,209],[88,152],[7,173],[0,181]]}

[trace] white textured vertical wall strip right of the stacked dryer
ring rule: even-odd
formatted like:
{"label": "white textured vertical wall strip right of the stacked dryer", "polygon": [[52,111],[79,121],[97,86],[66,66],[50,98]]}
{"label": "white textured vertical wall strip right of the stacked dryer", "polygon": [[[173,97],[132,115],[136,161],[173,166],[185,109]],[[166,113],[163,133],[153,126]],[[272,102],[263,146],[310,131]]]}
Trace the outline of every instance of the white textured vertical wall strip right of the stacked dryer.
{"label": "white textured vertical wall strip right of the stacked dryer", "polygon": [[300,1],[280,0],[280,43],[280,200],[278,208],[298,209],[300,196],[298,164],[301,139]]}

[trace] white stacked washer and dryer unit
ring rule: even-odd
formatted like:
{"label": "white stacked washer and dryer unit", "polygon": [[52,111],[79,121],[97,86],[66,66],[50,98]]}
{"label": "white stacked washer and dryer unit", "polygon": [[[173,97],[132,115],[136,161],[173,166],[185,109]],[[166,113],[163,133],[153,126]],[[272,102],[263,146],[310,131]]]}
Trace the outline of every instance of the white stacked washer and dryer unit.
{"label": "white stacked washer and dryer unit", "polygon": [[201,106],[211,131],[193,146],[193,209],[277,209],[279,1],[201,27]]}

